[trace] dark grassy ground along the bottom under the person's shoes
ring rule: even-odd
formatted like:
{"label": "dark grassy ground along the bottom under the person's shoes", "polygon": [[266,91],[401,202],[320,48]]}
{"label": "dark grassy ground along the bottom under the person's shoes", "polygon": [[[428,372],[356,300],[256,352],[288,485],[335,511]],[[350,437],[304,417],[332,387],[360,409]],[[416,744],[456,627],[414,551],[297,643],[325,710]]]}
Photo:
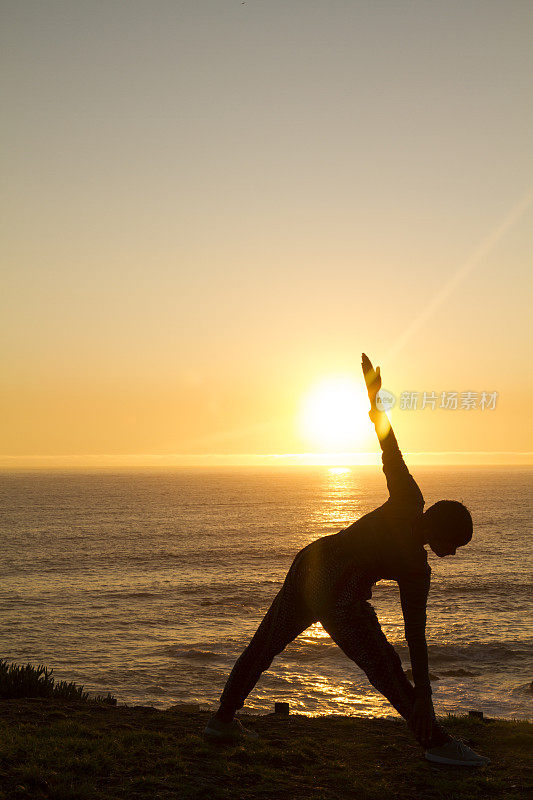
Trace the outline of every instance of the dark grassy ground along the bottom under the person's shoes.
{"label": "dark grassy ground along the bottom under the person's shoes", "polygon": [[522,800],[532,726],[448,717],[487,767],[430,764],[402,720],[243,717],[258,741],[213,746],[207,712],[0,700],[1,800]]}

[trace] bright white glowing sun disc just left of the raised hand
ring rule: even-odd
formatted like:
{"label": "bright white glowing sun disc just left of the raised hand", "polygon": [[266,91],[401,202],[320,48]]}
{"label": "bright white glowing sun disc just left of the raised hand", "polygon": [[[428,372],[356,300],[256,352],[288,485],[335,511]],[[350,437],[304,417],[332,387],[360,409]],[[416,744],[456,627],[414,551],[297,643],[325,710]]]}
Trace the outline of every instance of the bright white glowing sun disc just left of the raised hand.
{"label": "bright white glowing sun disc just left of the raised hand", "polygon": [[304,397],[301,430],[313,445],[346,451],[366,434],[368,398],[350,376],[324,378]]}

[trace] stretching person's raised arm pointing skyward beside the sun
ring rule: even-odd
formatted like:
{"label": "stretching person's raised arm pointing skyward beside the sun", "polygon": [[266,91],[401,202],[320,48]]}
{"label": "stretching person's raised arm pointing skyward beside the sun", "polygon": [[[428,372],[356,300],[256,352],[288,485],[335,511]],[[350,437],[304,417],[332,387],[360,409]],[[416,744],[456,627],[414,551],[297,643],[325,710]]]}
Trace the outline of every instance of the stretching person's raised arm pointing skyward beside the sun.
{"label": "stretching person's raised arm pointing skyward beside the sun", "polygon": [[389,419],[385,412],[380,411],[376,405],[377,393],[381,389],[380,368],[376,367],[376,369],[374,369],[372,362],[365,353],[361,356],[361,367],[368,390],[368,399],[370,400],[368,416],[374,423],[381,446],[383,472],[387,479],[390,499],[394,503],[419,505],[423,507],[424,498],[422,497],[422,492],[407,469]]}

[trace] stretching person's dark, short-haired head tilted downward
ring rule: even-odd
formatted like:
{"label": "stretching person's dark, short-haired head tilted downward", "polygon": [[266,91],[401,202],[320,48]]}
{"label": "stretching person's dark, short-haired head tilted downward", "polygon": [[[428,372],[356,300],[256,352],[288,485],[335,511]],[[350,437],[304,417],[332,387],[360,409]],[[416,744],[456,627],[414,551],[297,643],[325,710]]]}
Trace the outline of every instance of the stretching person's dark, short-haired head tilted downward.
{"label": "stretching person's dark, short-haired head tilted downward", "polygon": [[457,500],[439,500],[418,520],[424,544],[429,544],[438,556],[453,556],[458,547],[472,538],[470,511]]}

